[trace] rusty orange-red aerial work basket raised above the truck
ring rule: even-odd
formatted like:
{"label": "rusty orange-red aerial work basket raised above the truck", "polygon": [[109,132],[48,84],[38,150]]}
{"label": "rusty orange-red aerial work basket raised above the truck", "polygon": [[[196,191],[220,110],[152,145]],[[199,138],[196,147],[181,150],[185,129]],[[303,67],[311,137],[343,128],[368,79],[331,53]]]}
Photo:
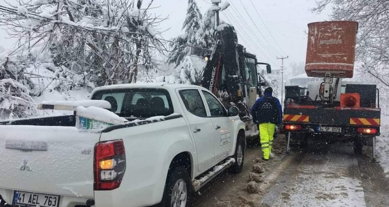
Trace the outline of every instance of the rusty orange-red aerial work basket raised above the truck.
{"label": "rusty orange-red aerial work basket raised above the truck", "polygon": [[351,78],[354,75],[358,23],[329,21],[308,24],[305,72],[309,77]]}

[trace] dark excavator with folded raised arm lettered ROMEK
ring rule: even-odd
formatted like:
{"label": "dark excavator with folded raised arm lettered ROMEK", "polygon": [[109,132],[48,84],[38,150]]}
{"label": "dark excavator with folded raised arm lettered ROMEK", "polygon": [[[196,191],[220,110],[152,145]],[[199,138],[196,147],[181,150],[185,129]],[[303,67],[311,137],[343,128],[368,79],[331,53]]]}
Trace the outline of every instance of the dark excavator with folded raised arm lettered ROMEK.
{"label": "dark excavator with folded raised arm lettered ROMEK", "polygon": [[200,86],[215,94],[226,107],[237,106],[240,119],[246,123],[246,131],[254,132],[246,135],[258,135],[250,109],[262,96],[262,87],[269,83],[258,73],[257,66],[265,65],[267,73],[271,73],[270,64],[258,62],[256,55],[248,53],[238,43],[235,29],[229,24],[216,28],[214,48],[205,59],[207,64],[201,75]]}

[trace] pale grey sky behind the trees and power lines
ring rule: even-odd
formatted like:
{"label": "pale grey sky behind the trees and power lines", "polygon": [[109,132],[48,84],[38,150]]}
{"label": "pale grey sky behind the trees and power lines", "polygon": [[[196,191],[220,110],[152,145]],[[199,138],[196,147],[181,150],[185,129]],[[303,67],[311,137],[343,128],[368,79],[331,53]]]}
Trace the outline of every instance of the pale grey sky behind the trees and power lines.
{"label": "pale grey sky behind the trees and power lines", "polygon": [[[15,2],[15,0],[9,1]],[[211,6],[209,3],[211,0],[196,1],[202,13],[205,13]],[[291,62],[305,62],[307,40],[304,31],[307,30],[307,24],[323,21],[327,19],[328,14],[327,12],[320,15],[313,14],[309,9],[315,5],[314,0],[251,0],[266,27],[277,41],[277,44],[267,32],[250,0],[229,1],[231,6],[227,8],[227,11],[222,11],[221,18],[235,27],[239,43],[247,47],[248,51],[255,53],[260,62],[272,64],[273,69],[281,65],[281,61],[276,60],[276,56],[288,55],[289,59],[285,61],[286,66]],[[148,3],[149,0],[145,0],[145,2]],[[154,0],[153,4],[154,6],[160,5],[153,12],[162,14],[165,17],[168,15],[169,17],[160,25],[162,30],[170,28],[162,34],[163,37],[170,39],[178,34],[182,34],[181,28],[185,19],[188,1]],[[2,2],[0,5],[5,5],[5,3]],[[253,21],[247,13],[250,14]],[[235,21],[239,22],[239,25]],[[261,32],[264,38],[258,31]],[[6,39],[6,37],[5,31],[0,31],[1,45],[5,48],[12,47],[14,40]]]}

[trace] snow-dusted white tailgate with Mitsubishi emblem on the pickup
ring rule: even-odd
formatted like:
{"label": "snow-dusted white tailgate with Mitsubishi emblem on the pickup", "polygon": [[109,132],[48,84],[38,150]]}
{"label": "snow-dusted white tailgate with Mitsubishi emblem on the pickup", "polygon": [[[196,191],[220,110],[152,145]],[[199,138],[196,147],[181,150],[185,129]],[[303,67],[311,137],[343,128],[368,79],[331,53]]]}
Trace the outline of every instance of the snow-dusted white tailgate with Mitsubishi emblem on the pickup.
{"label": "snow-dusted white tailgate with Mitsubishi emblem on the pickup", "polygon": [[[0,193],[94,197],[94,146],[100,131],[0,126]],[[4,190],[5,189],[5,190]]]}

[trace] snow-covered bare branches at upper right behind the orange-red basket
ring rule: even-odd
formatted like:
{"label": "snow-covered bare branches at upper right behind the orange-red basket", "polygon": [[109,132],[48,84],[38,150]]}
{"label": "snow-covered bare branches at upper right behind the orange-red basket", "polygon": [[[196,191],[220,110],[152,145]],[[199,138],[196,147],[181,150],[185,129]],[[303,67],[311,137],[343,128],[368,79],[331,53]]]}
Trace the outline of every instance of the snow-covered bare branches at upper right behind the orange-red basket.
{"label": "snow-covered bare branches at upper right behind the orange-red basket", "polygon": [[317,0],[315,12],[332,7],[331,19],[359,23],[356,59],[359,70],[389,87],[389,1]]}

